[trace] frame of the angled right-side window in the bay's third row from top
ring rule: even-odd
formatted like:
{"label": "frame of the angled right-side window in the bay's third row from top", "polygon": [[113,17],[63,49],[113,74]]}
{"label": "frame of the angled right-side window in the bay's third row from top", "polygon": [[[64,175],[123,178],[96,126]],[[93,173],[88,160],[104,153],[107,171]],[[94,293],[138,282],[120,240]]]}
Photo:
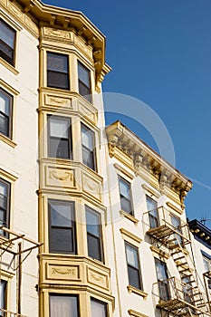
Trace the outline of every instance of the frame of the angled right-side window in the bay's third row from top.
{"label": "frame of the angled right-side window in the bay's third row from top", "polygon": [[[93,235],[88,232],[87,229],[87,212],[91,213],[92,215],[97,215],[98,216],[98,227],[99,227],[99,236]],[[97,212],[96,210],[92,209],[91,207],[85,205],[85,216],[86,216],[86,235],[87,235],[87,253],[88,256],[91,257],[93,260],[98,260],[101,263],[104,264],[104,248],[103,248],[103,236],[102,236],[102,227],[101,227],[101,213]],[[91,235],[94,238],[98,239],[99,242],[99,255],[100,259],[97,259],[89,254],[89,242],[88,242],[88,236]]]}

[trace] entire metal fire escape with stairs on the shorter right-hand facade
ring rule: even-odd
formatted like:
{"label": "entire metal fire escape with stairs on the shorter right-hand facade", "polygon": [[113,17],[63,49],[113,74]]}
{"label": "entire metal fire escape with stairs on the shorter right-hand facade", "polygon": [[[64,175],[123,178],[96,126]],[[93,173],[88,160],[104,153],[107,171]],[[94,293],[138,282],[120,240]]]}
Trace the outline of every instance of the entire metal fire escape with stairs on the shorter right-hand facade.
{"label": "entire metal fire escape with stairs on the shorter right-hand facade", "polygon": [[161,312],[172,316],[211,316],[206,293],[200,291],[197,272],[187,245],[191,249],[189,229],[179,218],[177,226],[174,216],[165,207],[158,207],[143,214],[145,232],[153,245],[168,248],[180,276],[168,277],[153,285],[153,294]]}

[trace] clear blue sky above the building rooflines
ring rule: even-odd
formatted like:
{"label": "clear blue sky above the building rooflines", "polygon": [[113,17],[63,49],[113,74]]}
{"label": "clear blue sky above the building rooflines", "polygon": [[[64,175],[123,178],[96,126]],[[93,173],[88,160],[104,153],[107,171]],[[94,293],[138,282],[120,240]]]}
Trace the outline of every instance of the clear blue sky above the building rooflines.
{"label": "clear blue sky above the building rooflines", "polygon": [[[138,98],[158,113],[173,141],[176,167],[194,183],[187,216],[211,218],[211,1],[44,3],[82,11],[106,35],[112,72],[103,91]],[[108,116],[108,123],[117,119]],[[120,120],[156,148],[146,131]]]}

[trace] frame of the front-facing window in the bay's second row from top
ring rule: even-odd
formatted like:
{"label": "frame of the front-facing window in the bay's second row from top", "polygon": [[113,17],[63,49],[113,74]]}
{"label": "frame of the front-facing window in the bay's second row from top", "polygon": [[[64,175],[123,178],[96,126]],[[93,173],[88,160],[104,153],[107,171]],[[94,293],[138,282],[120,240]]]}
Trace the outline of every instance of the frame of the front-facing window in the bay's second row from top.
{"label": "frame of the front-facing window in the bay's second row from top", "polygon": [[[51,119],[56,119],[56,120],[68,120],[69,121],[69,131],[68,131],[68,138],[57,138],[57,137],[51,137]],[[70,117],[64,117],[64,116],[59,116],[59,115],[53,115],[53,114],[48,114],[47,115],[47,128],[48,128],[48,133],[47,133],[47,156],[48,158],[53,158],[53,159],[72,159],[72,118]],[[68,158],[63,158],[62,156],[57,156],[57,152],[55,156],[51,155],[51,139],[63,139],[67,140],[68,142]],[[58,148],[57,148],[58,149]]]}

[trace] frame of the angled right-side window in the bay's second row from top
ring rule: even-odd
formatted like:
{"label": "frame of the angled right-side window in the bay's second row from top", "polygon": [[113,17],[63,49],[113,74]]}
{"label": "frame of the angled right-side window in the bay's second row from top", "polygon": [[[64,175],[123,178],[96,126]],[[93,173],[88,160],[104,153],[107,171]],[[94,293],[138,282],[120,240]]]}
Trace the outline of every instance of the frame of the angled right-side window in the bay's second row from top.
{"label": "frame of the angled right-side window in the bay's second row from top", "polygon": [[88,168],[91,168],[91,166],[87,165],[85,163],[85,159],[83,159],[83,149],[85,149],[87,152],[89,152],[89,155],[91,154],[92,156],[92,165],[93,165],[93,168],[91,168],[93,171],[97,172],[98,170],[98,166],[97,166],[97,157],[96,157],[96,137],[95,137],[95,131],[93,131],[91,128],[89,128],[86,124],[84,124],[83,122],[81,122],[81,138],[82,138],[82,128],[85,129],[85,130],[88,130],[88,132],[91,132],[92,133],[92,142],[93,142],[93,149],[89,149],[87,148],[85,145],[83,145],[82,143],[82,163],[88,167]]}

